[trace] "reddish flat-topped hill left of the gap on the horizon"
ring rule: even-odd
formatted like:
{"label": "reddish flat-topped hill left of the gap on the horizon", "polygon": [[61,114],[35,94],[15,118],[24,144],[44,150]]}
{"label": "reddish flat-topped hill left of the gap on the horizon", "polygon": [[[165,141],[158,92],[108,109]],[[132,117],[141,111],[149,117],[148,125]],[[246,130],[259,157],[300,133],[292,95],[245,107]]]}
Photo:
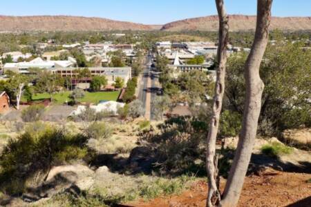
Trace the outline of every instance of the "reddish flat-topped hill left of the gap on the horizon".
{"label": "reddish flat-topped hill left of the gap on the horizon", "polygon": [[96,17],[0,16],[0,31],[153,30],[155,26]]}

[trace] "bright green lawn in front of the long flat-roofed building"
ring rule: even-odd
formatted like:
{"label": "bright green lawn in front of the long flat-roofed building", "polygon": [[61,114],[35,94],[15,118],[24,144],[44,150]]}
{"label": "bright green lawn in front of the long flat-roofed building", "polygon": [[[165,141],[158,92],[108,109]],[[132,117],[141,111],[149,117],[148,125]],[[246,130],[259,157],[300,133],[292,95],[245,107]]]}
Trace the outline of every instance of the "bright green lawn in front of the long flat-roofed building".
{"label": "bright green lawn in front of the long flat-roofed building", "polygon": [[[56,104],[63,104],[66,101],[70,101],[71,92],[57,92],[55,95],[53,95],[53,102]],[[119,96],[119,91],[112,91],[112,92],[85,92],[85,96],[82,99],[77,99],[79,102],[86,102],[86,103],[95,103],[97,104],[101,100],[106,101],[117,101],[117,97]],[[48,93],[39,93],[37,95],[34,95],[32,97],[33,101],[40,101],[43,99],[49,99],[50,95]],[[26,101],[25,99],[22,99],[22,101]]]}

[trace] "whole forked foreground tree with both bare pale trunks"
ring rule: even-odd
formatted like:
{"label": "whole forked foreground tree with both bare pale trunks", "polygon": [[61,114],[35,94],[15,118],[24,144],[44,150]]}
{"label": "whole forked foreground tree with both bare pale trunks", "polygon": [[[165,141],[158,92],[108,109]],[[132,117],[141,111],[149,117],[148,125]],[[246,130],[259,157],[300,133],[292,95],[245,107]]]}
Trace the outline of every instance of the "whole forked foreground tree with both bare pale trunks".
{"label": "whole forked foreground tree with both bare pale trunks", "polygon": [[225,185],[223,195],[220,195],[217,177],[217,157],[215,156],[215,141],[218,132],[218,122],[221,110],[222,95],[224,86],[222,81],[225,72],[222,71],[220,59],[222,48],[222,35],[224,26],[227,23],[223,0],[216,0],[220,22],[220,38],[218,46],[218,71],[216,81],[216,95],[214,97],[213,116],[211,118],[211,126],[207,139],[207,175],[209,177],[209,194],[207,197],[207,206],[237,206],[238,199],[241,195],[247,167],[252,155],[252,148],[256,138],[258,127],[258,118],[261,112],[261,97],[263,94],[264,84],[259,75],[261,61],[267,47],[269,38],[269,26],[271,21],[272,0],[257,1],[257,21],[256,32],[252,49],[247,57],[244,67],[245,77],[245,106],[243,110],[243,123],[241,133],[238,139],[238,147],[234,156],[234,161],[229,172],[229,177]]}

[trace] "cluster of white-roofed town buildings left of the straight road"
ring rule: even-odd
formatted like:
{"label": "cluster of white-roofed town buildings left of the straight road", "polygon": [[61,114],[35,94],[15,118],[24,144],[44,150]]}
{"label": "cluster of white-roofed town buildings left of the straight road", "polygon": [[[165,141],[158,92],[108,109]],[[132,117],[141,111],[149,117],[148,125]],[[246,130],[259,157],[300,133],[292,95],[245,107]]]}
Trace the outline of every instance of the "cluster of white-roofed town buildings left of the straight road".
{"label": "cluster of white-roofed town buildings left of the straight road", "polygon": [[[122,37],[122,34],[116,34],[117,37]],[[46,43],[37,43],[37,48],[41,50],[46,50],[48,46],[59,46],[55,45],[53,40],[49,40]],[[124,79],[124,82],[127,83],[129,79],[131,79],[131,67],[107,67],[111,62],[111,52],[115,52],[117,50],[122,50],[125,54],[125,58],[133,59],[135,58],[135,50],[134,45],[132,44],[113,44],[112,42],[104,42],[104,43],[89,43],[85,42],[83,44],[73,43],[73,44],[64,44],[62,45],[62,50],[52,51],[52,52],[43,52],[40,57],[32,59],[31,53],[23,54],[22,52],[8,52],[4,53],[2,57],[0,57],[0,75],[4,72],[10,70],[12,72],[19,72],[21,74],[30,74],[32,72],[31,69],[42,69],[48,70],[54,74],[61,75],[62,77],[77,77],[77,61],[68,55],[68,59],[66,60],[56,60],[57,57],[62,55],[62,53],[70,54],[69,50],[72,48],[79,48],[82,50],[86,57],[86,61],[91,61],[96,58],[96,64],[93,68],[88,68],[90,70],[91,75],[100,75],[105,76],[109,84],[114,83],[117,77],[121,77]],[[6,57],[12,57],[12,62],[3,63],[1,59],[5,59]],[[55,58],[56,57],[56,58]],[[84,80],[86,83],[90,82],[88,80]],[[75,83],[77,80],[75,81]],[[88,84],[89,85],[89,84]]]}

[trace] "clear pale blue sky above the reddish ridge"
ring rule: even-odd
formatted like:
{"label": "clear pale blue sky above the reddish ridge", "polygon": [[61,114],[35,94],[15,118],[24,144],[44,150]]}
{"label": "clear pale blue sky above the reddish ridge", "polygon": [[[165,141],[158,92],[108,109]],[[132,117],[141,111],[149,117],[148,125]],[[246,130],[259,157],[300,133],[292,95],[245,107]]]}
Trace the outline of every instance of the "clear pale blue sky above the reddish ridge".
{"label": "clear pale blue sky above the reddish ridge", "polygon": [[[256,0],[225,0],[229,14],[256,14]],[[6,0],[0,15],[64,14],[162,24],[216,14],[214,0]],[[310,17],[311,0],[274,0],[272,15]]]}

